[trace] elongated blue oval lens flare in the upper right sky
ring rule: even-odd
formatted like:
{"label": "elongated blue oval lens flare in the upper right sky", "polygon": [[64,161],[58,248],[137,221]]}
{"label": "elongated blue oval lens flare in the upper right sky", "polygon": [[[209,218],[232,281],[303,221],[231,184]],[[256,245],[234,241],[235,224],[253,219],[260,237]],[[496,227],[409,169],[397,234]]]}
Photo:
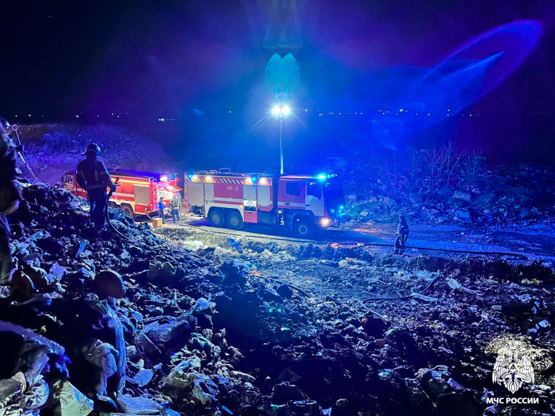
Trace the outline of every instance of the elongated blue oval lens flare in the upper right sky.
{"label": "elongated blue oval lens flare in the upper right sky", "polygon": [[[461,112],[506,80],[538,44],[541,33],[540,23],[524,20],[470,40],[384,105],[391,112],[370,119],[375,137],[388,148],[400,148],[411,132]],[[392,116],[395,112],[401,112],[402,119]]]}

